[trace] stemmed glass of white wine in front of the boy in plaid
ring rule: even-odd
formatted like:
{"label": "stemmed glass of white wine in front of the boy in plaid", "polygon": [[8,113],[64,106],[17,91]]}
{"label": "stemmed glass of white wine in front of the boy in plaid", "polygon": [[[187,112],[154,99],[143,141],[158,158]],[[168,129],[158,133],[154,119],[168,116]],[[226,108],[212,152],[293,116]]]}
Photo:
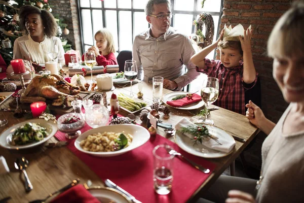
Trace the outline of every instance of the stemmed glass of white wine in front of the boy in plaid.
{"label": "stemmed glass of white wine in front of the boy in plaid", "polygon": [[212,119],[207,118],[208,115],[208,105],[214,103],[218,97],[218,79],[208,77],[207,80],[204,81],[203,87],[201,90],[201,96],[203,101],[206,104],[206,113],[203,123],[213,125],[214,122]]}

